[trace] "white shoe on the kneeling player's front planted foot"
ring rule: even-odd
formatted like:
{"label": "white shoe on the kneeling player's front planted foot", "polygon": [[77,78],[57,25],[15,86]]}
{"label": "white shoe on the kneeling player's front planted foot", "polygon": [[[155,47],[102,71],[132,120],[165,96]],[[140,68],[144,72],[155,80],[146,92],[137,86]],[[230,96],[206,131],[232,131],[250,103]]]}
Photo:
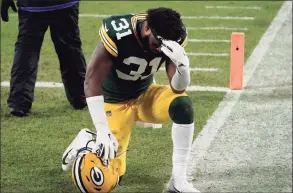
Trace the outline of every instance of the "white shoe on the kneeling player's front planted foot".
{"label": "white shoe on the kneeling player's front planted foot", "polygon": [[163,193],[191,193],[191,192],[197,192],[200,193],[200,191],[193,187],[193,185],[187,181],[183,181],[180,185],[174,184],[174,180],[170,180],[169,183],[166,185],[165,190]]}

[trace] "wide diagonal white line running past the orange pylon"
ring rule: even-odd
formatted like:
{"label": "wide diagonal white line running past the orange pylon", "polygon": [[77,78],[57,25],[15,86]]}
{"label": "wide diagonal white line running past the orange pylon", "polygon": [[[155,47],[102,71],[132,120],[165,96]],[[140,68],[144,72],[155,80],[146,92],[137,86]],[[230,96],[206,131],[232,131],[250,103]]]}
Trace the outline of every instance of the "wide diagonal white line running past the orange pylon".
{"label": "wide diagonal white line running past the orange pylon", "polygon": [[[253,75],[255,69],[257,68],[258,64],[265,56],[271,42],[274,40],[277,32],[281,28],[291,10],[292,2],[286,1],[277,13],[270,26],[268,27],[267,31],[263,34],[261,40],[253,50],[252,54],[248,58],[246,64],[244,65],[244,89],[249,82],[251,76]],[[239,97],[242,93],[243,90],[228,92],[223,101],[219,104],[216,111],[209,118],[207,124],[199,133],[198,137],[194,140],[189,162],[190,175],[195,174],[196,164],[199,164],[199,161],[204,159],[204,157],[206,156],[208,148],[210,147],[212,141],[218,133],[218,130],[224,125],[226,119],[231,114],[233,107],[238,102]],[[192,176],[189,177],[192,178]]]}

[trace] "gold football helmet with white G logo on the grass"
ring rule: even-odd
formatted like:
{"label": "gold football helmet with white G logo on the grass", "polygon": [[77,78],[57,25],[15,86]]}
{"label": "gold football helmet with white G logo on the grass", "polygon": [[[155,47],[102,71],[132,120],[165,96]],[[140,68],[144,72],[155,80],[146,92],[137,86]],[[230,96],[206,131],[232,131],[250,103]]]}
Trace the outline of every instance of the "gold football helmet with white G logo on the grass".
{"label": "gold football helmet with white G logo on the grass", "polygon": [[72,180],[80,192],[112,191],[119,181],[117,167],[103,161],[94,153],[77,158],[72,167]]}

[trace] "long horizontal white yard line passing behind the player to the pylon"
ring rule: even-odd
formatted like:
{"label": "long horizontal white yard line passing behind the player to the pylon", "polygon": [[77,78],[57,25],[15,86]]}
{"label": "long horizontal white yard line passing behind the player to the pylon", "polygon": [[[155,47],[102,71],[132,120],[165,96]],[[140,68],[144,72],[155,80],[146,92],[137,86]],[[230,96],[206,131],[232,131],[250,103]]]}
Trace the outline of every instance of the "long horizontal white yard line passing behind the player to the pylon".
{"label": "long horizontal white yard line passing behind the player to the pylon", "polygon": [[[8,81],[1,82],[1,87],[9,87],[10,83]],[[62,83],[57,82],[36,82],[36,87],[43,88],[62,88]],[[229,92],[229,88],[225,87],[211,87],[211,86],[189,86],[187,91],[212,91],[212,92]]]}

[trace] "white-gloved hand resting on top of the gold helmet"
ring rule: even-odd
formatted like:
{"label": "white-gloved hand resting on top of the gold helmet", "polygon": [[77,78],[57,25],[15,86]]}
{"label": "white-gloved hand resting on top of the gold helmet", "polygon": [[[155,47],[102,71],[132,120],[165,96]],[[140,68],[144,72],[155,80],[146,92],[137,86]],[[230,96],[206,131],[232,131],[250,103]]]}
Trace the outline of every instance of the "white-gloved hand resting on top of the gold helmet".
{"label": "white-gloved hand resting on top of the gold helmet", "polygon": [[103,159],[114,159],[118,150],[118,141],[110,129],[97,129],[96,149],[97,156]]}

